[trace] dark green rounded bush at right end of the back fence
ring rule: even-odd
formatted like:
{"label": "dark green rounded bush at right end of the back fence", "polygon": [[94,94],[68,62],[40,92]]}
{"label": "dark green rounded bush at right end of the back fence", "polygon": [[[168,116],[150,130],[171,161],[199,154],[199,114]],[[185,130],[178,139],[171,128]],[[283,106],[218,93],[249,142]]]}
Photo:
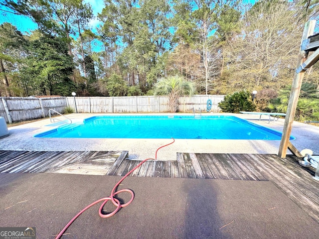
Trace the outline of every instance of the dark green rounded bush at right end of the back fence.
{"label": "dark green rounded bush at right end of the back fence", "polygon": [[247,91],[235,92],[232,95],[225,96],[218,106],[223,112],[227,113],[256,110],[255,104],[251,101],[251,95]]}

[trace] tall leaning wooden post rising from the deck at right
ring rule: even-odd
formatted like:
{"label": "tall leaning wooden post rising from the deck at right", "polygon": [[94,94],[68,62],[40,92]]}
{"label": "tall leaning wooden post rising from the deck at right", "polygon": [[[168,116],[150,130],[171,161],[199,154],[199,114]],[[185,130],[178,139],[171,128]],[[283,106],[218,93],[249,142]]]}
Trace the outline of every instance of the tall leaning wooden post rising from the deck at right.
{"label": "tall leaning wooden post rising from the deck at right", "polygon": [[295,118],[298,98],[300,94],[300,88],[301,88],[303,78],[307,69],[309,69],[313,64],[315,64],[319,60],[319,49],[317,49],[308,58],[308,51],[304,51],[302,46],[304,40],[308,39],[309,36],[314,34],[315,25],[316,25],[316,20],[308,21],[305,24],[303,37],[301,40],[301,48],[299,51],[299,57],[297,61],[297,70],[295,72],[295,76],[294,76],[294,80],[293,80],[293,84],[291,88],[283,134],[282,134],[282,138],[281,138],[280,146],[279,146],[278,156],[281,158],[286,157],[287,149],[291,150],[292,152],[294,150],[293,147],[289,147],[289,145],[290,146],[292,145],[289,141],[289,138],[290,138],[290,134],[292,130],[292,124]]}

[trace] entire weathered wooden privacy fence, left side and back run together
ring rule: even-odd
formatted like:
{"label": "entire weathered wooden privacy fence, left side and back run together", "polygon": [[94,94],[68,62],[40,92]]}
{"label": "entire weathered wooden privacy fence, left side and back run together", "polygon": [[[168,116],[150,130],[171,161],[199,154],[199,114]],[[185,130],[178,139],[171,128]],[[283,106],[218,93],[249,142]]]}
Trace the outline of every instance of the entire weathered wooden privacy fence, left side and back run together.
{"label": "entire weathered wooden privacy fence, left side and back run together", "polygon": [[[179,112],[206,111],[207,100],[212,102],[211,112],[219,112],[218,103],[224,96],[195,95],[179,97]],[[53,109],[62,113],[69,106],[79,113],[163,113],[168,112],[167,96],[128,97],[0,97],[0,117],[6,122],[39,119],[49,116]]]}

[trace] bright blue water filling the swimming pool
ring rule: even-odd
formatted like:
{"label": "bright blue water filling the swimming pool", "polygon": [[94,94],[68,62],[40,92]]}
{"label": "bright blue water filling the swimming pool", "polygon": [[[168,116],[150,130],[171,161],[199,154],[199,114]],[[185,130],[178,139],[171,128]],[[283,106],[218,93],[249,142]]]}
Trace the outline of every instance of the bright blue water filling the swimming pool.
{"label": "bright blue water filling the swimming pool", "polygon": [[281,134],[233,116],[97,116],[34,137],[280,140]]}

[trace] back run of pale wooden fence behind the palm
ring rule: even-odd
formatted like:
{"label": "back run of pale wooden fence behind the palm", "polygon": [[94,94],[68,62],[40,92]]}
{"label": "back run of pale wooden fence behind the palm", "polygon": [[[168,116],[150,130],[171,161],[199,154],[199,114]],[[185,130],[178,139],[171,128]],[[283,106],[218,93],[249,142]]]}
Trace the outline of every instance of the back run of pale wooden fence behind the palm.
{"label": "back run of pale wooden fence behind the palm", "polygon": [[[206,111],[207,100],[212,102],[211,112],[219,112],[218,103],[224,96],[194,95],[179,97],[179,112]],[[168,112],[167,96],[127,97],[67,97],[67,105],[79,113],[163,113]]]}

